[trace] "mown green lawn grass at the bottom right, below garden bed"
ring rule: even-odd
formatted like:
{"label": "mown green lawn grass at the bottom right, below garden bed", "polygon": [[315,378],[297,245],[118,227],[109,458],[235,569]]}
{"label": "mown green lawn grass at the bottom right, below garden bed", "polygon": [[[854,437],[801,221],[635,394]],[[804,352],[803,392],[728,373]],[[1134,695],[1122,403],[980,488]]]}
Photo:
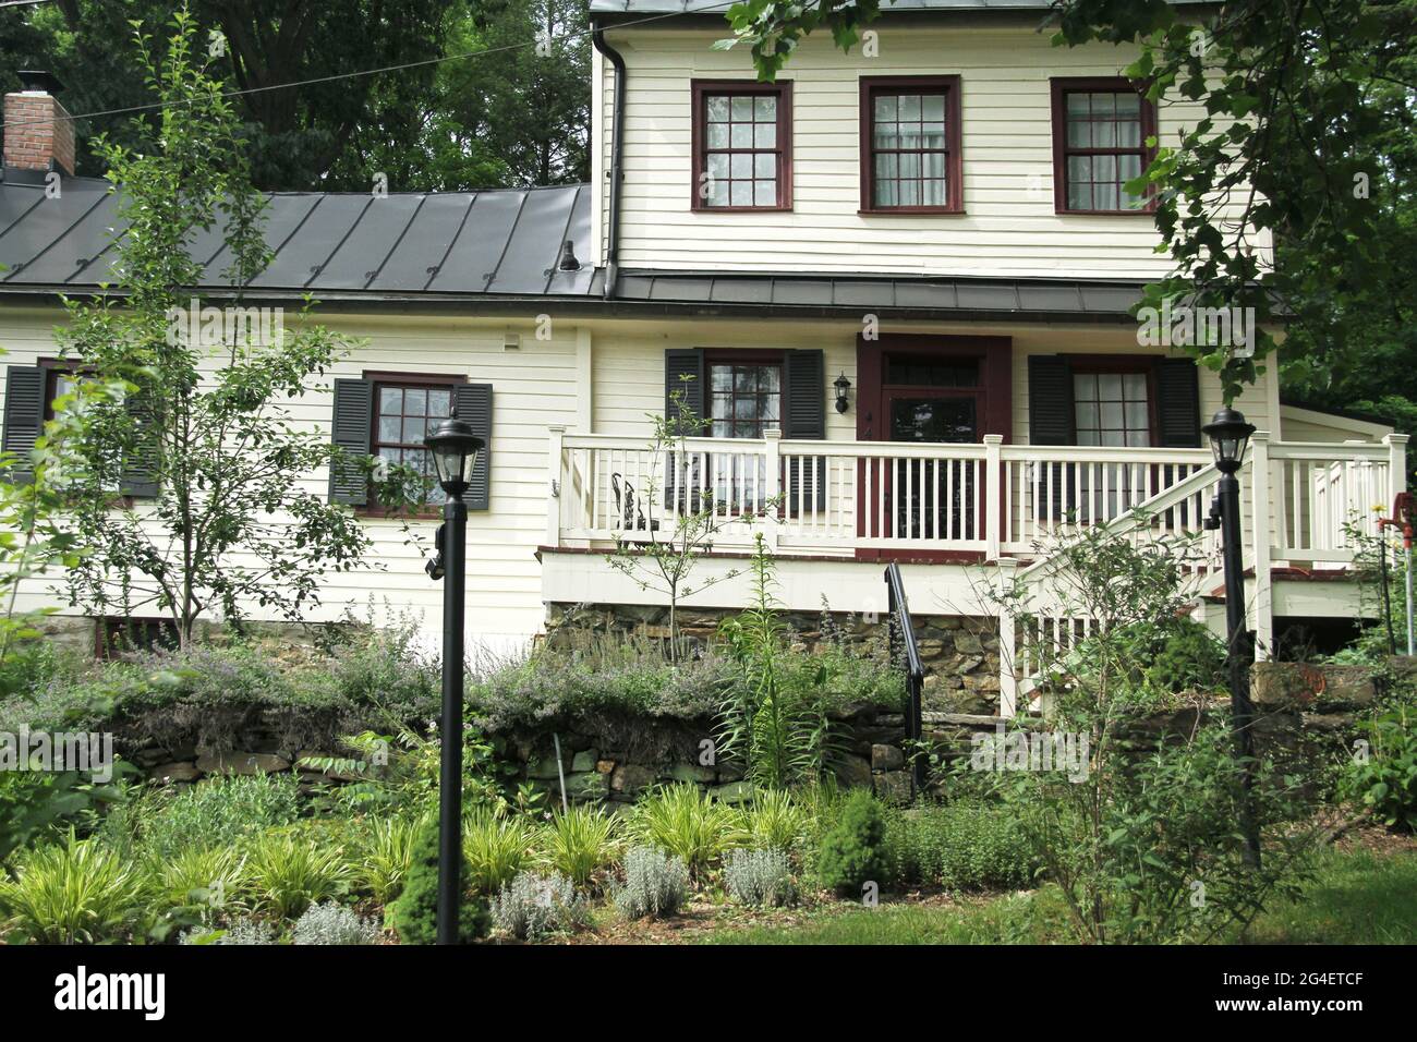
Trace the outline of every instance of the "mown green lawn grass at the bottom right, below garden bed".
{"label": "mown green lawn grass at the bottom right, below garden bed", "polygon": [[[1049,944],[1068,943],[1056,890],[956,904],[835,906],[805,923],[716,930],[706,944]],[[1295,902],[1277,903],[1244,937],[1250,944],[1417,943],[1417,853],[1325,851]]]}

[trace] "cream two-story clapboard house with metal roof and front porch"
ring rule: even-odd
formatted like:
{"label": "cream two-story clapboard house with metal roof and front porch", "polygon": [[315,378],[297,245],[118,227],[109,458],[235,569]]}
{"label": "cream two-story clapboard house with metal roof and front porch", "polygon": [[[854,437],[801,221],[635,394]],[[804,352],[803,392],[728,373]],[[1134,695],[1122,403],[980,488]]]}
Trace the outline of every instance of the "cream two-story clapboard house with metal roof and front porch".
{"label": "cream two-story clapboard house with metal roof and front porch", "polygon": [[[894,560],[918,615],[986,621],[981,581],[1027,574],[1081,526],[1148,505],[1155,529],[1199,530],[1220,387],[1129,313],[1169,261],[1125,184],[1148,139],[1202,106],[1148,101],[1119,77],[1128,48],[1050,45],[1043,0],[896,4],[852,54],[808,38],[775,84],[711,47],[726,7],[592,0],[587,186],[272,198],[275,259],[247,299],[310,292],[323,322],[366,337],[300,415],[391,459],[453,407],[489,439],[469,641],[524,639],[578,604],[650,617],[663,595],[605,553],[666,537],[683,510],[720,517],[696,586],[741,571],[762,532],[791,610],[883,611]],[[21,102],[61,112],[43,85]],[[6,448],[33,441],[61,377],[57,295],[98,292],[108,271],[115,201],[71,176],[67,126],[48,152],[26,140],[38,132],[6,138]],[[218,247],[193,247],[214,299]],[[656,452],[676,394],[703,435]],[[1289,410],[1272,364],[1236,404],[1260,428],[1243,479],[1264,654],[1277,620],[1357,611],[1345,523],[1403,488],[1406,439]],[[368,506],[359,486],[329,493]],[[324,617],[373,600],[436,632],[418,553],[367,523],[385,570],[332,578]],[[1316,568],[1333,581],[1302,581]],[[1219,578],[1195,574],[1204,612]],[[686,607],[744,594],[730,578]],[[1007,629],[989,689],[1013,712]]]}

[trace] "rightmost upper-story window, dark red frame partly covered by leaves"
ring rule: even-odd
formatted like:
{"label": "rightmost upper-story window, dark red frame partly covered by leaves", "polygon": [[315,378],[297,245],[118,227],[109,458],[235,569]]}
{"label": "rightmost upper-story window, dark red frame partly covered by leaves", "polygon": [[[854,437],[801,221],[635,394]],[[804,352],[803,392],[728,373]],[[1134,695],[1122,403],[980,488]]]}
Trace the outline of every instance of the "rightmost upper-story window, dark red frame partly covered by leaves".
{"label": "rightmost upper-story window, dark red frame partly covered by leaves", "polygon": [[1141,176],[1156,133],[1156,106],[1122,78],[1053,81],[1053,186],[1058,213],[1144,213],[1149,194],[1125,184]]}

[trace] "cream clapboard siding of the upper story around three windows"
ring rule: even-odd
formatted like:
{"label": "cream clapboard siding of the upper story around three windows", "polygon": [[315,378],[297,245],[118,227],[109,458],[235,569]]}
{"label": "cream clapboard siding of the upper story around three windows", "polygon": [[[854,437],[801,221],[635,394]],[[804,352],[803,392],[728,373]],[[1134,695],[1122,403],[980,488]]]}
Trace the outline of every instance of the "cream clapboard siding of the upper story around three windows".
{"label": "cream clapboard siding of the upper story around three windows", "polygon": [[[1053,47],[1030,26],[898,26],[883,18],[879,57],[806,38],[782,71],[792,81],[794,208],[693,211],[690,79],[751,79],[747,48],[714,51],[724,28],[606,31],[629,67],[621,180],[621,264],[628,268],[893,272],[1054,278],[1153,278],[1145,215],[1058,215],[1053,208],[1051,77],[1117,75],[1131,48]],[[605,230],[614,71],[599,61],[594,179]],[[964,215],[860,215],[859,79],[961,77]],[[1175,99],[1162,142],[1203,115]],[[1267,241],[1257,240],[1265,247]]]}

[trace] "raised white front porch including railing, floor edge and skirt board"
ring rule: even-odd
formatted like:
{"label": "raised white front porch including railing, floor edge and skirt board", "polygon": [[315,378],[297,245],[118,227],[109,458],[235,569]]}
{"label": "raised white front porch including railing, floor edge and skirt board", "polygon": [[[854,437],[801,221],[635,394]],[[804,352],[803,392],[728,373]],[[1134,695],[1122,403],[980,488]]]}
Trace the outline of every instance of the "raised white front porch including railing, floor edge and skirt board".
{"label": "raised white front porch including railing, floor edge and skirt board", "polygon": [[[1277,617],[1357,614],[1345,570],[1355,536],[1376,536],[1377,519],[1406,488],[1406,444],[1396,434],[1380,444],[1254,435],[1240,481],[1247,610],[1261,658],[1274,646]],[[913,612],[995,617],[1000,580],[1041,588],[1053,549],[1107,526],[1118,537],[1185,540],[1196,614],[1213,625],[1223,618],[1209,610],[1221,580],[1217,533],[1203,527],[1219,479],[1207,449],[1012,445],[999,435],[789,441],[769,430],[761,439],[690,438],[656,451],[645,439],[551,428],[548,465],[547,603],[660,603],[604,554],[625,542],[667,540],[687,512],[700,512],[714,532],[699,576],[741,573],[761,533],[791,611],[829,604],[884,612],[881,567],[897,561]],[[1329,581],[1308,584],[1311,574]],[[684,604],[735,607],[745,594],[738,574]],[[1063,605],[1056,618],[1040,614],[1032,639],[1067,641],[1087,625]],[[1030,635],[1013,625],[999,635],[999,712],[1012,716],[1030,688]]]}

